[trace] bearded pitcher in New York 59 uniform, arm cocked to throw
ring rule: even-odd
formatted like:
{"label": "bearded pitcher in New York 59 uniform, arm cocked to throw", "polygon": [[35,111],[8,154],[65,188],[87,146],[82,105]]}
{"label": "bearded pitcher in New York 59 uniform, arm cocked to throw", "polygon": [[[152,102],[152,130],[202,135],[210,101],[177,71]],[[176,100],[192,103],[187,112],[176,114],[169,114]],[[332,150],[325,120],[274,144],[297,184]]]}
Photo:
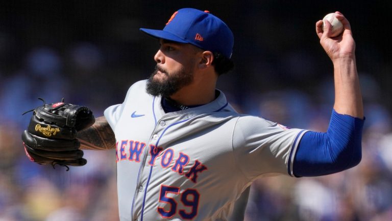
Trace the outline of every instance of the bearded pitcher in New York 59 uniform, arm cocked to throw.
{"label": "bearded pitcher in New York 59 uniform, arm cocked to throw", "polygon": [[86,107],[35,109],[22,135],[26,153],[37,163],[78,166],[86,163],[80,149],[114,148],[120,220],[243,219],[256,179],[331,174],[361,160],[355,43],[349,21],[340,12],[336,18],[344,26],[336,37],[328,22],[315,24],[334,66],[327,132],[238,114],[215,88],[219,75],[233,68],[233,33],[212,13],[184,8],[163,30],[140,29],[160,44],[148,80],[131,85],[124,102],[95,122]]}

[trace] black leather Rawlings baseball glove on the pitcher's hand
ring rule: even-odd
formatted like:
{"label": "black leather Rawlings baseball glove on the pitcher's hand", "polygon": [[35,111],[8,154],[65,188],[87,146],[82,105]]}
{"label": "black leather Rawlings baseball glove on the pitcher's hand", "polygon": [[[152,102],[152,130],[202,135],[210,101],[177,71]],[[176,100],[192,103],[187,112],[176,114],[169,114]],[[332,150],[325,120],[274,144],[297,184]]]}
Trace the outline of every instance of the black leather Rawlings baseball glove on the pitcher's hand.
{"label": "black leather Rawlings baseball glove on the pitcher's hand", "polygon": [[88,107],[59,102],[32,111],[29,127],[22,133],[24,150],[31,161],[67,169],[87,163],[76,135],[95,122]]}

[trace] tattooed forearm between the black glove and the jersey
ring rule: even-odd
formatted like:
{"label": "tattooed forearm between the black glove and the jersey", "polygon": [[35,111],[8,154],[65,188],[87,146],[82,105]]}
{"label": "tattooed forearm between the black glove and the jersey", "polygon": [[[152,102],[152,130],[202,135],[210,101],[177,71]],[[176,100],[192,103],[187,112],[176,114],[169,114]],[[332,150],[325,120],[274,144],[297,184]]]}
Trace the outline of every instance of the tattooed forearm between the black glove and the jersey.
{"label": "tattooed forearm between the black glove and the jersey", "polygon": [[80,149],[107,150],[116,146],[114,132],[104,116],[96,118],[92,126],[78,131],[77,138]]}

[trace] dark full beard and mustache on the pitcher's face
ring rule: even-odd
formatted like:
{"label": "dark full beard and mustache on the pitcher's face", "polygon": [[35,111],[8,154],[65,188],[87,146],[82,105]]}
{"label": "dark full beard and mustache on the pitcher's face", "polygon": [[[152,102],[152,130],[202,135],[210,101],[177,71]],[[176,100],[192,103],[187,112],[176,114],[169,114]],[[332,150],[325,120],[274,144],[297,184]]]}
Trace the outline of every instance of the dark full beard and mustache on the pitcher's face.
{"label": "dark full beard and mustache on the pitcher's face", "polygon": [[[154,79],[154,76],[158,71],[165,75],[164,79]],[[178,92],[182,87],[189,85],[192,81],[193,74],[184,67],[178,71],[168,73],[156,65],[155,71],[151,74],[147,82],[146,90],[147,93],[153,96],[162,96],[168,98],[174,93]]]}

